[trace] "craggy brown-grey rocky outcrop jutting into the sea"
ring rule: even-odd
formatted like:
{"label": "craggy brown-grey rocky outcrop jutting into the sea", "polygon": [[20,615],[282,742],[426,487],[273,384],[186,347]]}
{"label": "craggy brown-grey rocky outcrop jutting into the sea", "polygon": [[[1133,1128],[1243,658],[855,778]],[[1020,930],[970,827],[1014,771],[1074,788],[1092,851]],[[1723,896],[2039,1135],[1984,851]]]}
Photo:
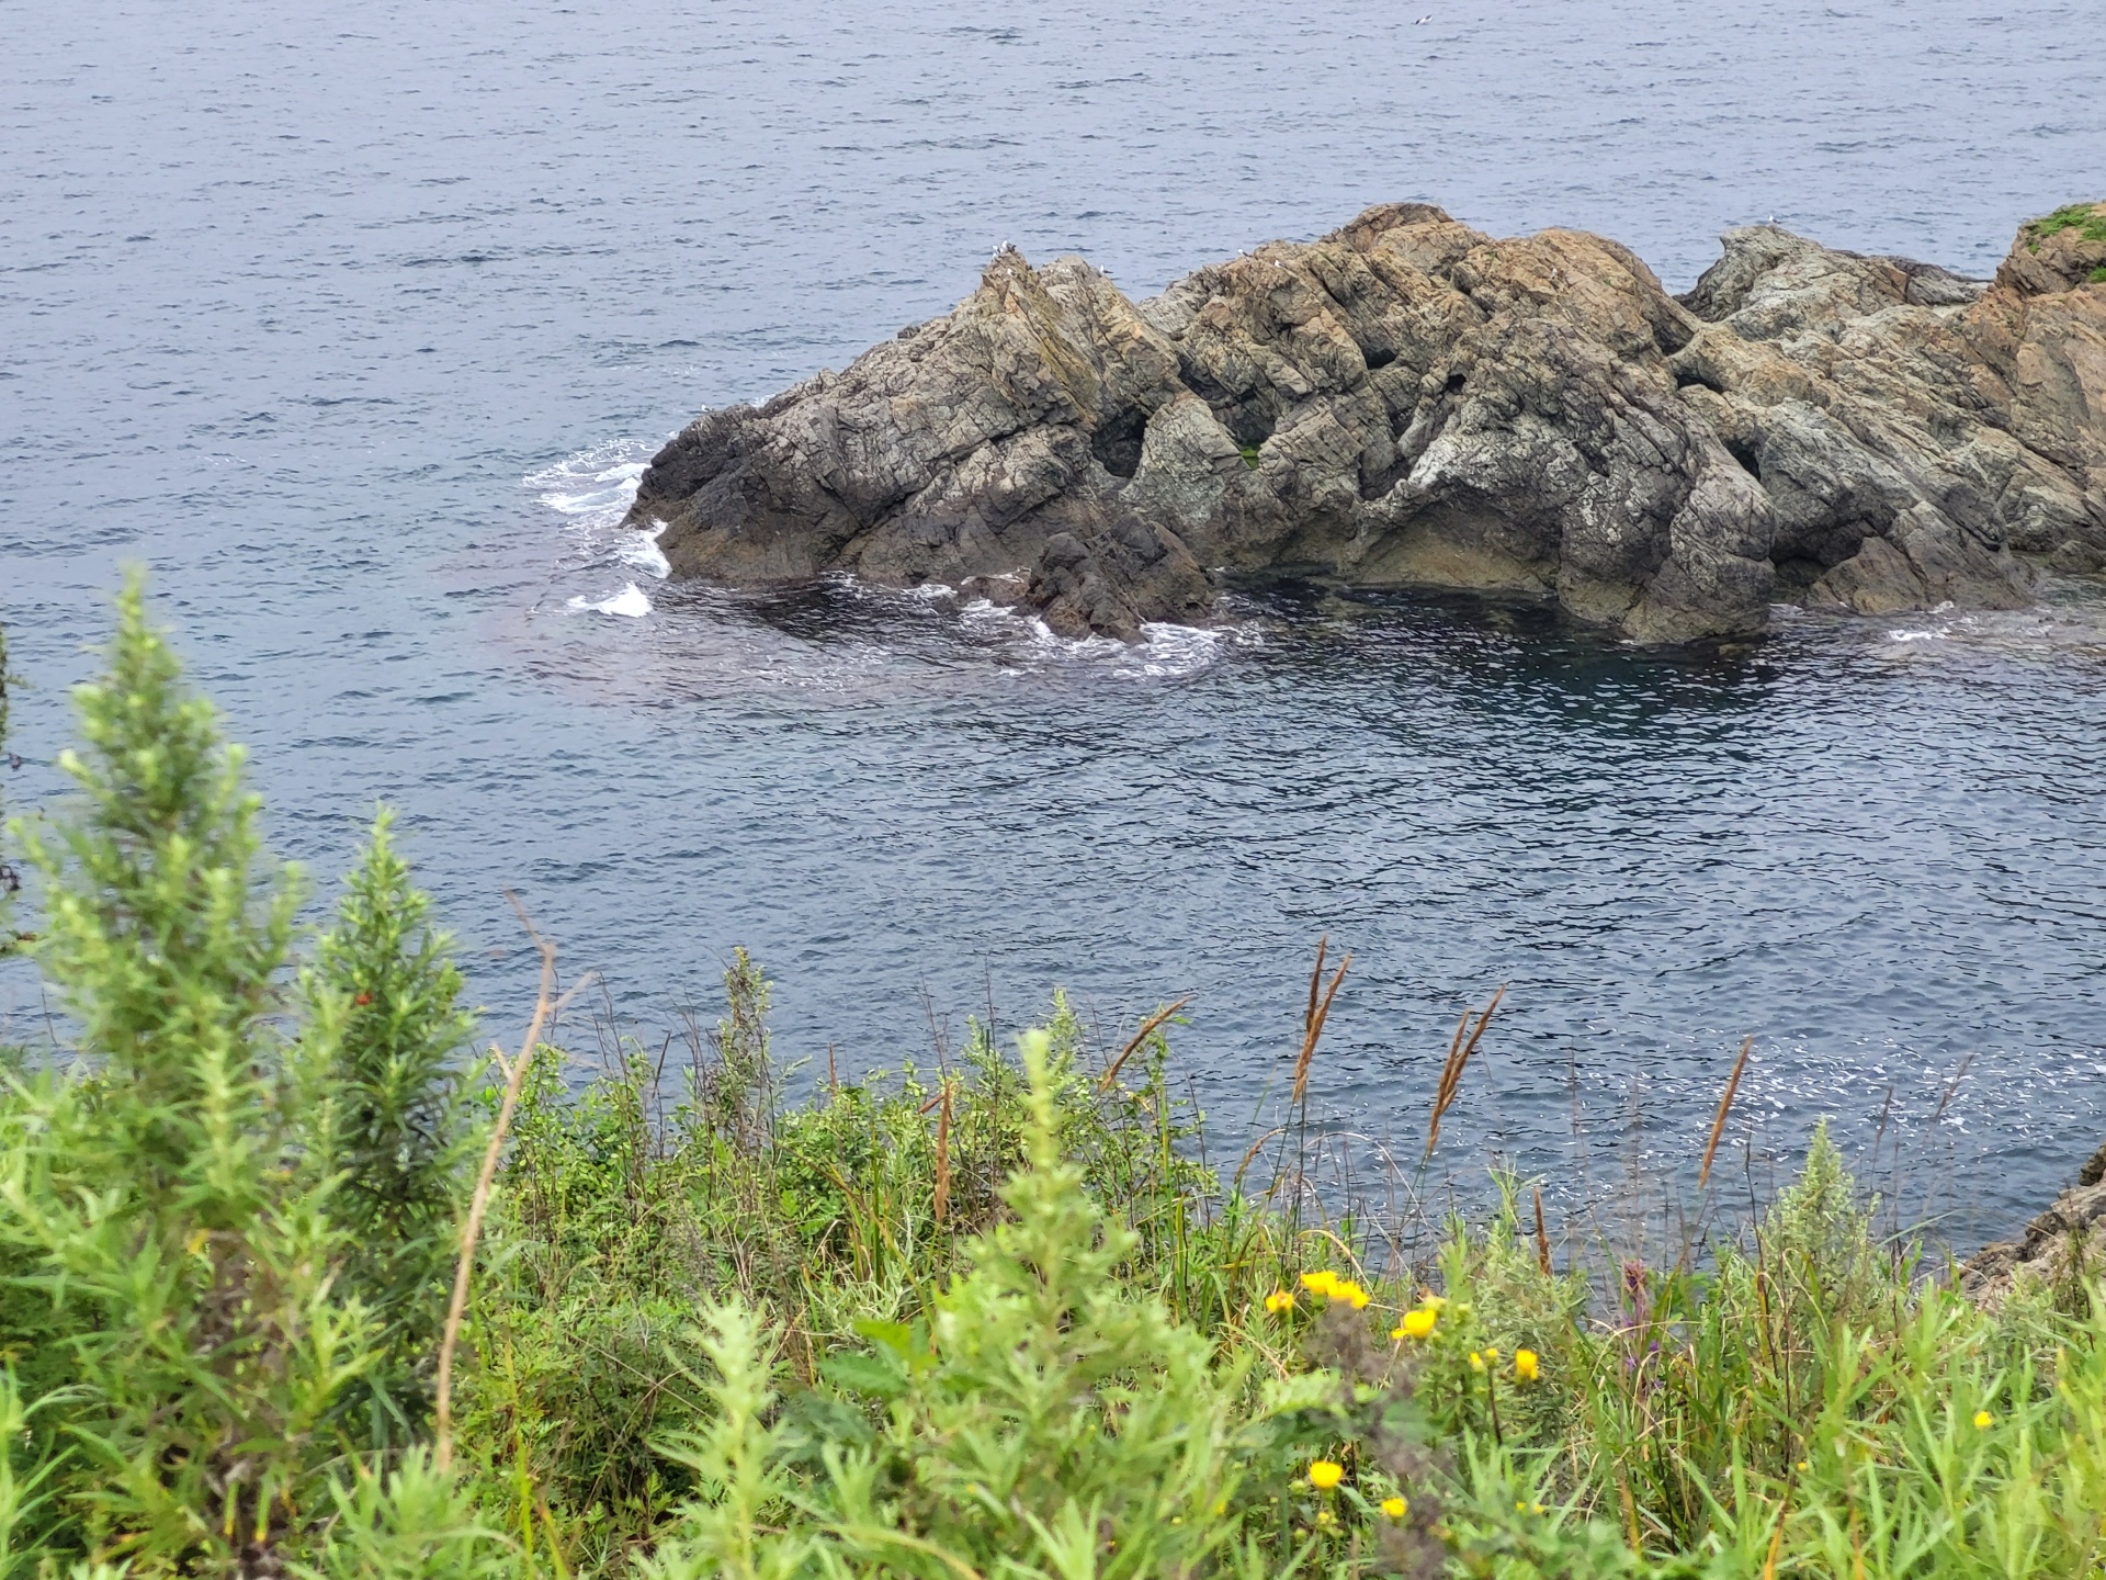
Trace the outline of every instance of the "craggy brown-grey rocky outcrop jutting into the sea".
{"label": "craggy brown-grey rocky outcrop jutting into the sea", "polygon": [[941,581],[1066,634],[1240,577],[1548,596],[1647,643],[2011,607],[2106,565],[2093,251],[2106,204],[1992,284],[1759,225],[1676,299],[1598,236],[1388,204],[1135,303],[1005,249],[948,316],[697,417],[630,522],[674,575]]}

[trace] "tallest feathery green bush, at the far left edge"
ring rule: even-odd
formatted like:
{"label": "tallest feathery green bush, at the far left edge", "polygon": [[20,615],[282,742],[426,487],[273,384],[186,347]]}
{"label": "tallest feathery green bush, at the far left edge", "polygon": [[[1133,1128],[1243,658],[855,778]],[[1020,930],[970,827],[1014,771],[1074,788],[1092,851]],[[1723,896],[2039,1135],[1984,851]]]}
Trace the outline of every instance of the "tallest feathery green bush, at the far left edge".
{"label": "tallest feathery green bush, at the far left edge", "polygon": [[40,1540],[141,1572],[278,1574],[341,1523],[333,1420],[388,1359],[339,1272],[398,1247],[371,1222],[354,1247],[337,1216],[307,1125],[356,1095],[341,1028],[316,1018],[303,1045],[276,1020],[299,876],[265,864],[240,748],[137,581],[76,704],[76,805],[17,832],[44,876],[34,952],[82,1058],[0,1104],[4,1340],[55,1456]]}

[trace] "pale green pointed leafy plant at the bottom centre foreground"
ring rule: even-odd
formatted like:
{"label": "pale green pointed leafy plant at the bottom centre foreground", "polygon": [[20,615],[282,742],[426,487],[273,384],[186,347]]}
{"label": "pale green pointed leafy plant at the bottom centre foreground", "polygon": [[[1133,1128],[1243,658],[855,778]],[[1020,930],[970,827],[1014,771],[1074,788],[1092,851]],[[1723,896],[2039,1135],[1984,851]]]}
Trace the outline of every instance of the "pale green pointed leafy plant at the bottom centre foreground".
{"label": "pale green pointed leafy plant at the bottom centre foreground", "polygon": [[[769,1376],[748,1308],[716,1306],[703,1346],[716,1424],[674,1447],[710,1496],[682,1515],[653,1574],[1175,1576],[1230,1567],[1245,1479],[1280,1468],[1291,1424],[1335,1380],[1251,1386],[1160,1298],[1118,1279],[1135,1249],[1082,1190],[1057,1142],[1047,1032],[1024,1036],[1030,1165],[1002,1192],[1013,1222],[967,1249],[927,1327],[866,1325],[872,1348],[830,1380],[882,1409],[819,1449],[823,1475],[771,1466]],[[1287,1430],[1280,1430],[1287,1428]],[[1255,1557],[1255,1555],[1253,1555]]]}

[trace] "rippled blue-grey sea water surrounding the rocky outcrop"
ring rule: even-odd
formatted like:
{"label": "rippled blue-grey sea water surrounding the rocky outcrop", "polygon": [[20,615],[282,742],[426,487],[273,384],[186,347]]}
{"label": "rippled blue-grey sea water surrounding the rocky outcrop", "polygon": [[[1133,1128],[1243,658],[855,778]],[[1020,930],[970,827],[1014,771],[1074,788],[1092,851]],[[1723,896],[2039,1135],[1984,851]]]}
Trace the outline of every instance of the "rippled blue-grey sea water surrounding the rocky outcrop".
{"label": "rippled blue-grey sea water surrounding the rocky outcrop", "polygon": [[[1329,931],[1316,1091],[1375,1140],[1508,984],[1457,1169],[1689,1159],[1748,1032],[1742,1173],[1824,1112],[1868,1146],[1893,1089],[1889,1152],[1950,1165],[1969,1239],[2102,1140],[2085,588],[1725,657],[1316,598],[1122,653],[674,590],[607,531],[697,409],[941,312],[1002,240],[1139,293],[1430,198],[1670,287],[1769,215],[1986,272],[2106,194],[2091,0],[8,0],[0,32],[15,807],[139,560],[276,847],[335,872],[394,801],[505,1034],[510,885],[640,1032],[743,942],[779,1047],[847,1070],[1055,984],[1110,1043],[1192,992],[1240,1131]],[[21,969],[0,1013],[40,1024]]]}

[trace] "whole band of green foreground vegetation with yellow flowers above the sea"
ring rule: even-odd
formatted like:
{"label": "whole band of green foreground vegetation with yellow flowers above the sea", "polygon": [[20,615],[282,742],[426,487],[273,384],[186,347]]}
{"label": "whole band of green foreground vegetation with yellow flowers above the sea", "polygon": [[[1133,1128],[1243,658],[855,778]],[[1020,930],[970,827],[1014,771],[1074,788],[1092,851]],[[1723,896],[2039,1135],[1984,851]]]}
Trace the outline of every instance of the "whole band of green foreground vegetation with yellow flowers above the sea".
{"label": "whole band of green foreground vegetation with yellow flowers above the sea", "polygon": [[385,813],[301,937],[137,588],[78,708],[15,826],[74,1041],[0,1093],[0,1580],[2100,1574],[2089,1268],[1963,1300],[1824,1133],[1588,1268],[1514,1180],[1398,1226],[1297,1125],[1200,1161],[1169,1015],[792,1100],[739,954],[678,1055],[478,1058]]}

